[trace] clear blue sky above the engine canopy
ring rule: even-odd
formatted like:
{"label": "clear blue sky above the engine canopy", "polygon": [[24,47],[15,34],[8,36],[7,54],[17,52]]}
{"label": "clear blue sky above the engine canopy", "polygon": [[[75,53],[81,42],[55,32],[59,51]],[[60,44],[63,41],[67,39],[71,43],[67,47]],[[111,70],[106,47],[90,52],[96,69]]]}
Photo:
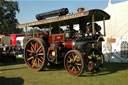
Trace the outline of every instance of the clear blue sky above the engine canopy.
{"label": "clear blue sky above the engine canopy", "polygon": [[[76,13],[77,8],[104,9],[108,0],[12,0],[18,1],[20,12],[17,19],[20,24],[37,21],[36,14],[44,13],[61,8],[68,8],[69,13]],[[119,3],[127,0],[112,0],[112,3]]]}

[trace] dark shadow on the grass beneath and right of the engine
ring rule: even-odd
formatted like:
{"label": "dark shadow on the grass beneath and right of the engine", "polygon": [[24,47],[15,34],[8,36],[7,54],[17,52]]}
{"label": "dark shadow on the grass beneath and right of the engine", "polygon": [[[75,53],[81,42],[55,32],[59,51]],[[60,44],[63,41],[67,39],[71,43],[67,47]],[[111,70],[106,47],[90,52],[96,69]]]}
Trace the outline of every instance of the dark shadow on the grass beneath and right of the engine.
{"label": "dark shadow on the grass beneath and right of the engine", "polygon": [[[49,65],[47,69],[44,71],[58,71],[58,70],[65,70],[64,64]],[[105,62],[101,71],[84,72],[80,77],[109,75],[109,74],[116,73],[121,70],[128,70],[128,64],[127,63]]]}

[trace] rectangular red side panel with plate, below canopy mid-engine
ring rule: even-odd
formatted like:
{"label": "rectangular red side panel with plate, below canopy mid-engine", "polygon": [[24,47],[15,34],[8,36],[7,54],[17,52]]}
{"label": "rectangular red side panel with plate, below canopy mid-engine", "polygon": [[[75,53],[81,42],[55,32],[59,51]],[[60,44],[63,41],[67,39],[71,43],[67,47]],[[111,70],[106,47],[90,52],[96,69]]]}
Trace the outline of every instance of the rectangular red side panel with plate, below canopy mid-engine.
{"label": "rectangular red side panel with plate, below canopy mid-engine", "polygon": [[64,34],[56,34],[56,35],[50,35],[49,36],[49,43],[54,43],[56,42],[64,42]]}

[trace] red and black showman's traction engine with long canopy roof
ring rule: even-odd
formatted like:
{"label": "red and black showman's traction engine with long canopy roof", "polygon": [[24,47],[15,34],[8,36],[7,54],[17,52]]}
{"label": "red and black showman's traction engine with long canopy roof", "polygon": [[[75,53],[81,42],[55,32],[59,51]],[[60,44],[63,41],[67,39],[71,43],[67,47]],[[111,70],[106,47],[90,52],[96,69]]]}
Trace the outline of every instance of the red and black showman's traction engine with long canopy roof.
{"label": "red and black showman's traction engine with long canopy roof", "polygon": [[[101,27],[96,21],[110,19],[110,16],[99,9],[68,14],[63,8],[51,12],[37,14],[38,21],[17,25],[17,28],[48,28],[41,36],[29,39],[24,48],[24,59],[28,68],[34,71],[43,70],[48,63],[64,63],[68,73],[79,76],[85,71],[99,71],[104,64],[101,53]],[[74,25],[79,26],[75,30]],[[66,26],[66,30],[61,27]],[[105,25],[104,25],[105,27]],[[105,31],[105,28],[104,28]]]}

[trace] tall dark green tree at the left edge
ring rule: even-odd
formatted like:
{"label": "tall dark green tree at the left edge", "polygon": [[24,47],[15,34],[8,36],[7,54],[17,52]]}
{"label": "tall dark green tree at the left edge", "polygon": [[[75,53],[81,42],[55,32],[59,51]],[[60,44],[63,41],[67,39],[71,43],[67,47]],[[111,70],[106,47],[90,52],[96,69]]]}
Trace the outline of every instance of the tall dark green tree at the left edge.
{"label": "tall dark green tree at the left edge", "polygon": [[0,0],[0,34],[21,33],[22,29],[17,29],[16,13],[19,12],[17,1]]}

